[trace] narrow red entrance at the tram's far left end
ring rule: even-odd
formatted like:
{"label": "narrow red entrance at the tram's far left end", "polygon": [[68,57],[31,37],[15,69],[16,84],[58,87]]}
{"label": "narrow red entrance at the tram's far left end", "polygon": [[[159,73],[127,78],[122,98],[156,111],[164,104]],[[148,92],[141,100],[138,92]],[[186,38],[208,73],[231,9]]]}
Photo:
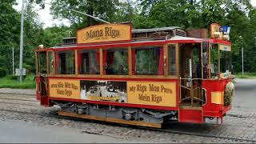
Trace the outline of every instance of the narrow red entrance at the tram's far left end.
{"label": "narrow red entrance at the tram's far left end", "polygon": [[38,78],[37,78],[37,94],[42,105],[48,104],[47,97],[47,60],[46,51],[38,52]]}

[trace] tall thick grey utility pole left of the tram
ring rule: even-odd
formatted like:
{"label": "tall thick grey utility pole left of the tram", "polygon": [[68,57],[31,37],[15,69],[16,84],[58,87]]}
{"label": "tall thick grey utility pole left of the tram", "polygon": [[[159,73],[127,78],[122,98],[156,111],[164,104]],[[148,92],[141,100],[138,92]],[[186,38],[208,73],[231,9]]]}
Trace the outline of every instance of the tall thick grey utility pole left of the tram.
{"label": "tall thick grey utility pole left of the tram", "polygon": [[21,39],[19,43],[19,82],[22,82],[24,3],[25,0],[22,0]]}

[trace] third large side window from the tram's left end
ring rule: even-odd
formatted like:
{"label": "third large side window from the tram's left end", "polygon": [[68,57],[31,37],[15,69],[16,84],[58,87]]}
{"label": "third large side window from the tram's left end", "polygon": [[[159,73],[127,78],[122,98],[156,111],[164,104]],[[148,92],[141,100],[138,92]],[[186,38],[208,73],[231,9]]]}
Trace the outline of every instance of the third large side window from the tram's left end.
{"label": "third large side window from the tram's left end", "polygon": [[128,50],[122,48],[103,50],[103,64],[104,74],[128,74]]}

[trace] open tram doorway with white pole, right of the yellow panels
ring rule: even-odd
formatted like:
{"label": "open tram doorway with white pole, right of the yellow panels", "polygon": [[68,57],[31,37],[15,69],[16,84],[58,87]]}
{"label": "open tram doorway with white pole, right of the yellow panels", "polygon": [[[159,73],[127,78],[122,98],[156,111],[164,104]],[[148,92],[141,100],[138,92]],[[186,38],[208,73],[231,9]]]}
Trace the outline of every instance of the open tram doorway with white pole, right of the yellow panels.
{"label": "open tram doorway with white pole, right of the yellow panels", "polygon": [[180,106],[202,106],[201,43],[179,46]]}

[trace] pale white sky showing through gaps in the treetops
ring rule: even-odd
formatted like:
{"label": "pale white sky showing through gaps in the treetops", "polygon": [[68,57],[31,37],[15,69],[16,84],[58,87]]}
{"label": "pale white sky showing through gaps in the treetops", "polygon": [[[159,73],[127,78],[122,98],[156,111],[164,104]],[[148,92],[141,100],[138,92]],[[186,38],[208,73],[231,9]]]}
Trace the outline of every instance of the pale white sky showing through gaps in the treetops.
{"label": "pale white sky showing through gaps in the treetops", "polygon": [[[18,5],[14,6],[14,9],[20,11],[22,10],[22,0],[16,0]],[[46,3],[50,3],[51,0],[46,0]],[[256,0],[250,0],[250,2],[252,3],[253,6],[256,6]],[[44,10],[40,10],[39,6],[36,6],[35,9],[38,11],[38,16],[40,18],[40,22],[44,23],[44,28],[48,27],[48,26],[54,26],[54,24],[56,25],[60,25],[60,24],[64,24],[66,26],[70,25],[70,22],[68,22],[67,20],[62,20],[62,19],[53,19],[52,15],[50,14],[50,5],[46,5]]]}

